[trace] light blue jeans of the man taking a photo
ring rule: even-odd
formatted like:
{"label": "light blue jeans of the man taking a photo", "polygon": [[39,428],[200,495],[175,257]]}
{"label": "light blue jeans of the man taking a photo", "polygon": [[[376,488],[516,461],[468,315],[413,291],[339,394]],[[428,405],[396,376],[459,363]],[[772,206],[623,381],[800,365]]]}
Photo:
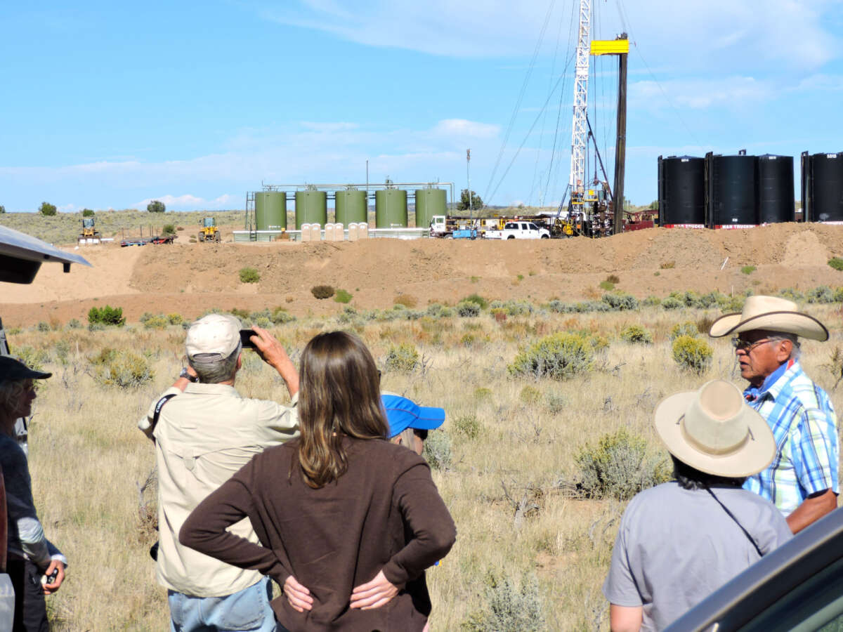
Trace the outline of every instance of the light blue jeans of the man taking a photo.
{"label": "light blue jeans of the man taking a photo", "polygon": [[225,597],[191,597],[167,591],[170,632],[275,632],[269,605],[272,586],[264,577]]}

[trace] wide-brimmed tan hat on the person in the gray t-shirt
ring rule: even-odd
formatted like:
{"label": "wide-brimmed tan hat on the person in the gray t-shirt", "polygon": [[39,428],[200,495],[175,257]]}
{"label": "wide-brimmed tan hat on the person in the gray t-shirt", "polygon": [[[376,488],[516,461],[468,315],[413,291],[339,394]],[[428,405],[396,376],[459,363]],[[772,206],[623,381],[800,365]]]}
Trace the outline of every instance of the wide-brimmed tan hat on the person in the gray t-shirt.
{"label": "wide-brimmed tan hat on the person in the gray t-shirt", "polygon": [[738,388],[724,380],[670,395],[656,406],[655,417],[668,452],[706,474],[751,476],[776,456],[770,426],[746,404]]}

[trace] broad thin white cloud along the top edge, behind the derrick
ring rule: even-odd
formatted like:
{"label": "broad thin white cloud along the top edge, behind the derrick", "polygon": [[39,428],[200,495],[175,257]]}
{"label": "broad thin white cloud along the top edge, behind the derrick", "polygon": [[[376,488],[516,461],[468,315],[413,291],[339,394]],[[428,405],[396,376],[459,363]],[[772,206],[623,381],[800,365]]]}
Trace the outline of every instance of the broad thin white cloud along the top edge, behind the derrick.
{"label": "broad thin white cloud along the top edge, behind the derrick", "polygon": [[[563,43],[575,39],[571,14],[576,4],[555,4],[544,38],[547,56],[557,36]],[[747,72],[770,62],[804,70],[822,66],[840,50],[828,26],[840,11],[837,0],[639,0],[629,3],[623,19],[620,11],[600,5],[592,23],[594,39],[611,39],[626,30],[647,64],[667,63],[677,71],[716,64]],[[267,8],[264,15],[367,46],[438,56],[526,58],[539,40],[548,7],[546,0],[371,0],[350,10],[332,0],[299,0],[283,10]]]}

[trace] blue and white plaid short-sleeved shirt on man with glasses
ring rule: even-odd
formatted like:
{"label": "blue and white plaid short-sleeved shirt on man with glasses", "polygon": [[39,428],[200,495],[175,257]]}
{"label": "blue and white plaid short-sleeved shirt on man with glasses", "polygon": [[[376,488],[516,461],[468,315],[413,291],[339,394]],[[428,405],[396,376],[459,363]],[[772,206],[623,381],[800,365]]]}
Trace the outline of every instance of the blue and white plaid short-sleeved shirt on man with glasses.
{"label": "blue and white plaid short-sleeved shirt on man with glasses", "polygon": [[770,466],[746,479],[744,488],[772,501],[785,515],[808,495],[838,492],[837,418],[828,394],[792,362],[749,405],[767,420],[776,438]]}

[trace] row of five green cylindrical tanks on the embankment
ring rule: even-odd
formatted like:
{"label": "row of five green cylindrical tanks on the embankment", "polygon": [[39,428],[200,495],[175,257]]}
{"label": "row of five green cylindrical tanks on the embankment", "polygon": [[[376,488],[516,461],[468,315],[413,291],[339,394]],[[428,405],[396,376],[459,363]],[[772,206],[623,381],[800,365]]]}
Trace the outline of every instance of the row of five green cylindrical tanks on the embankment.
{"label": "row of five green cylindrical tanks on the embankment", "polygon": [[[448,214],[448,199],[444,189],[416,189],[416,228],[427,228],[434,215]],[[336,191],[335,222],[348,226],[368,222],[366,191],[348,188]],[[296,191],[296,230],[302,224],[328,223],[328,194],[307,189]],[[406,228],[407,191],[379,189],[374,194],[375,228]],[[255,228],[257,230],[287,230],[287,193],[285,191],[255,192]]]}

